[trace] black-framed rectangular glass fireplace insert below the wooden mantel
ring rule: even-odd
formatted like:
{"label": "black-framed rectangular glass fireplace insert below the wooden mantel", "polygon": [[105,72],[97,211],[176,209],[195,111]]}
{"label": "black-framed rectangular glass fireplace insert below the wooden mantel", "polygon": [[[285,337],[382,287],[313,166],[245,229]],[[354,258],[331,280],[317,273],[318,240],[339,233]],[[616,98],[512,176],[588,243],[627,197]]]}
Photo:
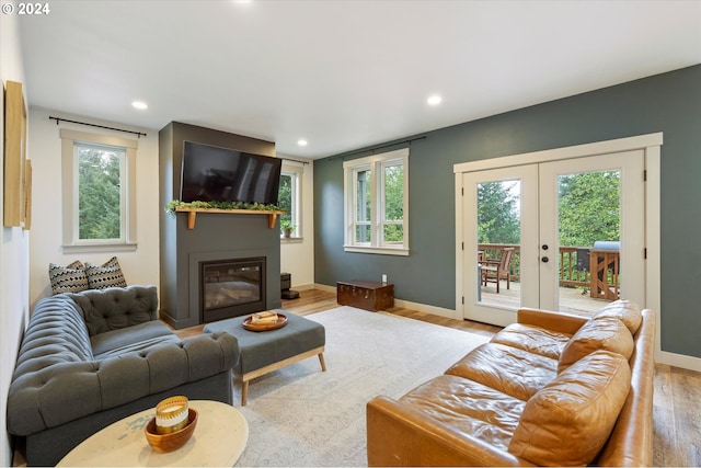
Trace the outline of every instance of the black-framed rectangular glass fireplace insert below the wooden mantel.
{"label": "black-framed rectangular glass fireplace insert below the wooden mantel", "polygon": [[202,323],[266,309],[265,256],[199,262]]}

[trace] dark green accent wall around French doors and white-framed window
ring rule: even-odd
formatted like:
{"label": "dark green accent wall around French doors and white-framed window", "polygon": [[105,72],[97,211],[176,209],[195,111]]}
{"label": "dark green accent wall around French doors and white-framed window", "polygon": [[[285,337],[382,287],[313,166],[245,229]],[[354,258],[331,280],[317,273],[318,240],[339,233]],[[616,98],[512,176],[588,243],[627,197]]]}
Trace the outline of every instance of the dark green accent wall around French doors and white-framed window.
{"label": "dark green accent wall around French doors and white-framed window", "polygon": [[453,164],[657,132],[664,133],[662,349],[701,357],[701,65],[443,128],[411,142],[410,256],[343,251],[343,161],[371,148],[315,161],[314,281],[380,281],[386,273],[398,298],[455,309]]}

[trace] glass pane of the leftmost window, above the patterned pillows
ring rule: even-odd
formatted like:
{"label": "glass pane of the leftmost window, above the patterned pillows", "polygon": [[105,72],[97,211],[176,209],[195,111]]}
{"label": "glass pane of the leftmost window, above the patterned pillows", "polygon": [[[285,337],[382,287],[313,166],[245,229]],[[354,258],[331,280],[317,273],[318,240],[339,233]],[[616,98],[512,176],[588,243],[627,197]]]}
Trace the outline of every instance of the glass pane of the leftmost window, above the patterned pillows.
{"label": "glass pane of the leftmost window, above the patterned pillows", "polygon": [[119,239],[122,236],[119,148],[76,145],[78,153],[78,237]]}

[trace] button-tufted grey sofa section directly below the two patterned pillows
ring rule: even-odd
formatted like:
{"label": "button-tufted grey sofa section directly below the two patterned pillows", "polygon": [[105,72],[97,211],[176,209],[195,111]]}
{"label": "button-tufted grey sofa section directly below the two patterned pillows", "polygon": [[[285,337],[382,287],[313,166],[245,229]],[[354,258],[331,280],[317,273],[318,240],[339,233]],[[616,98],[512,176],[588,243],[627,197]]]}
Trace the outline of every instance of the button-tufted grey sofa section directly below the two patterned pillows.
{"label": "button-tufted grey sofa section directly below the two patterned pillows", "polygon": [[78,304],[90,336],[158,318],[156,286],[88,289],[68,294]]}

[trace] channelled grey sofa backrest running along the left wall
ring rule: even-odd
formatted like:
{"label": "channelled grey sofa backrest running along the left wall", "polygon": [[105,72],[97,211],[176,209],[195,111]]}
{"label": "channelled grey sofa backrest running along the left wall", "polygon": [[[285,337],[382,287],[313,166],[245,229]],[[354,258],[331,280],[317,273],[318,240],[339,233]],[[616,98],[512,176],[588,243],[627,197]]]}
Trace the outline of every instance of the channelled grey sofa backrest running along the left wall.
{"label": "channelled grey sofa backrest running along the left wall", "polygon": [[32,312],[18,355],[14,379],[57,364],[92,361],[88,328],[67,295],[47,297]]}

